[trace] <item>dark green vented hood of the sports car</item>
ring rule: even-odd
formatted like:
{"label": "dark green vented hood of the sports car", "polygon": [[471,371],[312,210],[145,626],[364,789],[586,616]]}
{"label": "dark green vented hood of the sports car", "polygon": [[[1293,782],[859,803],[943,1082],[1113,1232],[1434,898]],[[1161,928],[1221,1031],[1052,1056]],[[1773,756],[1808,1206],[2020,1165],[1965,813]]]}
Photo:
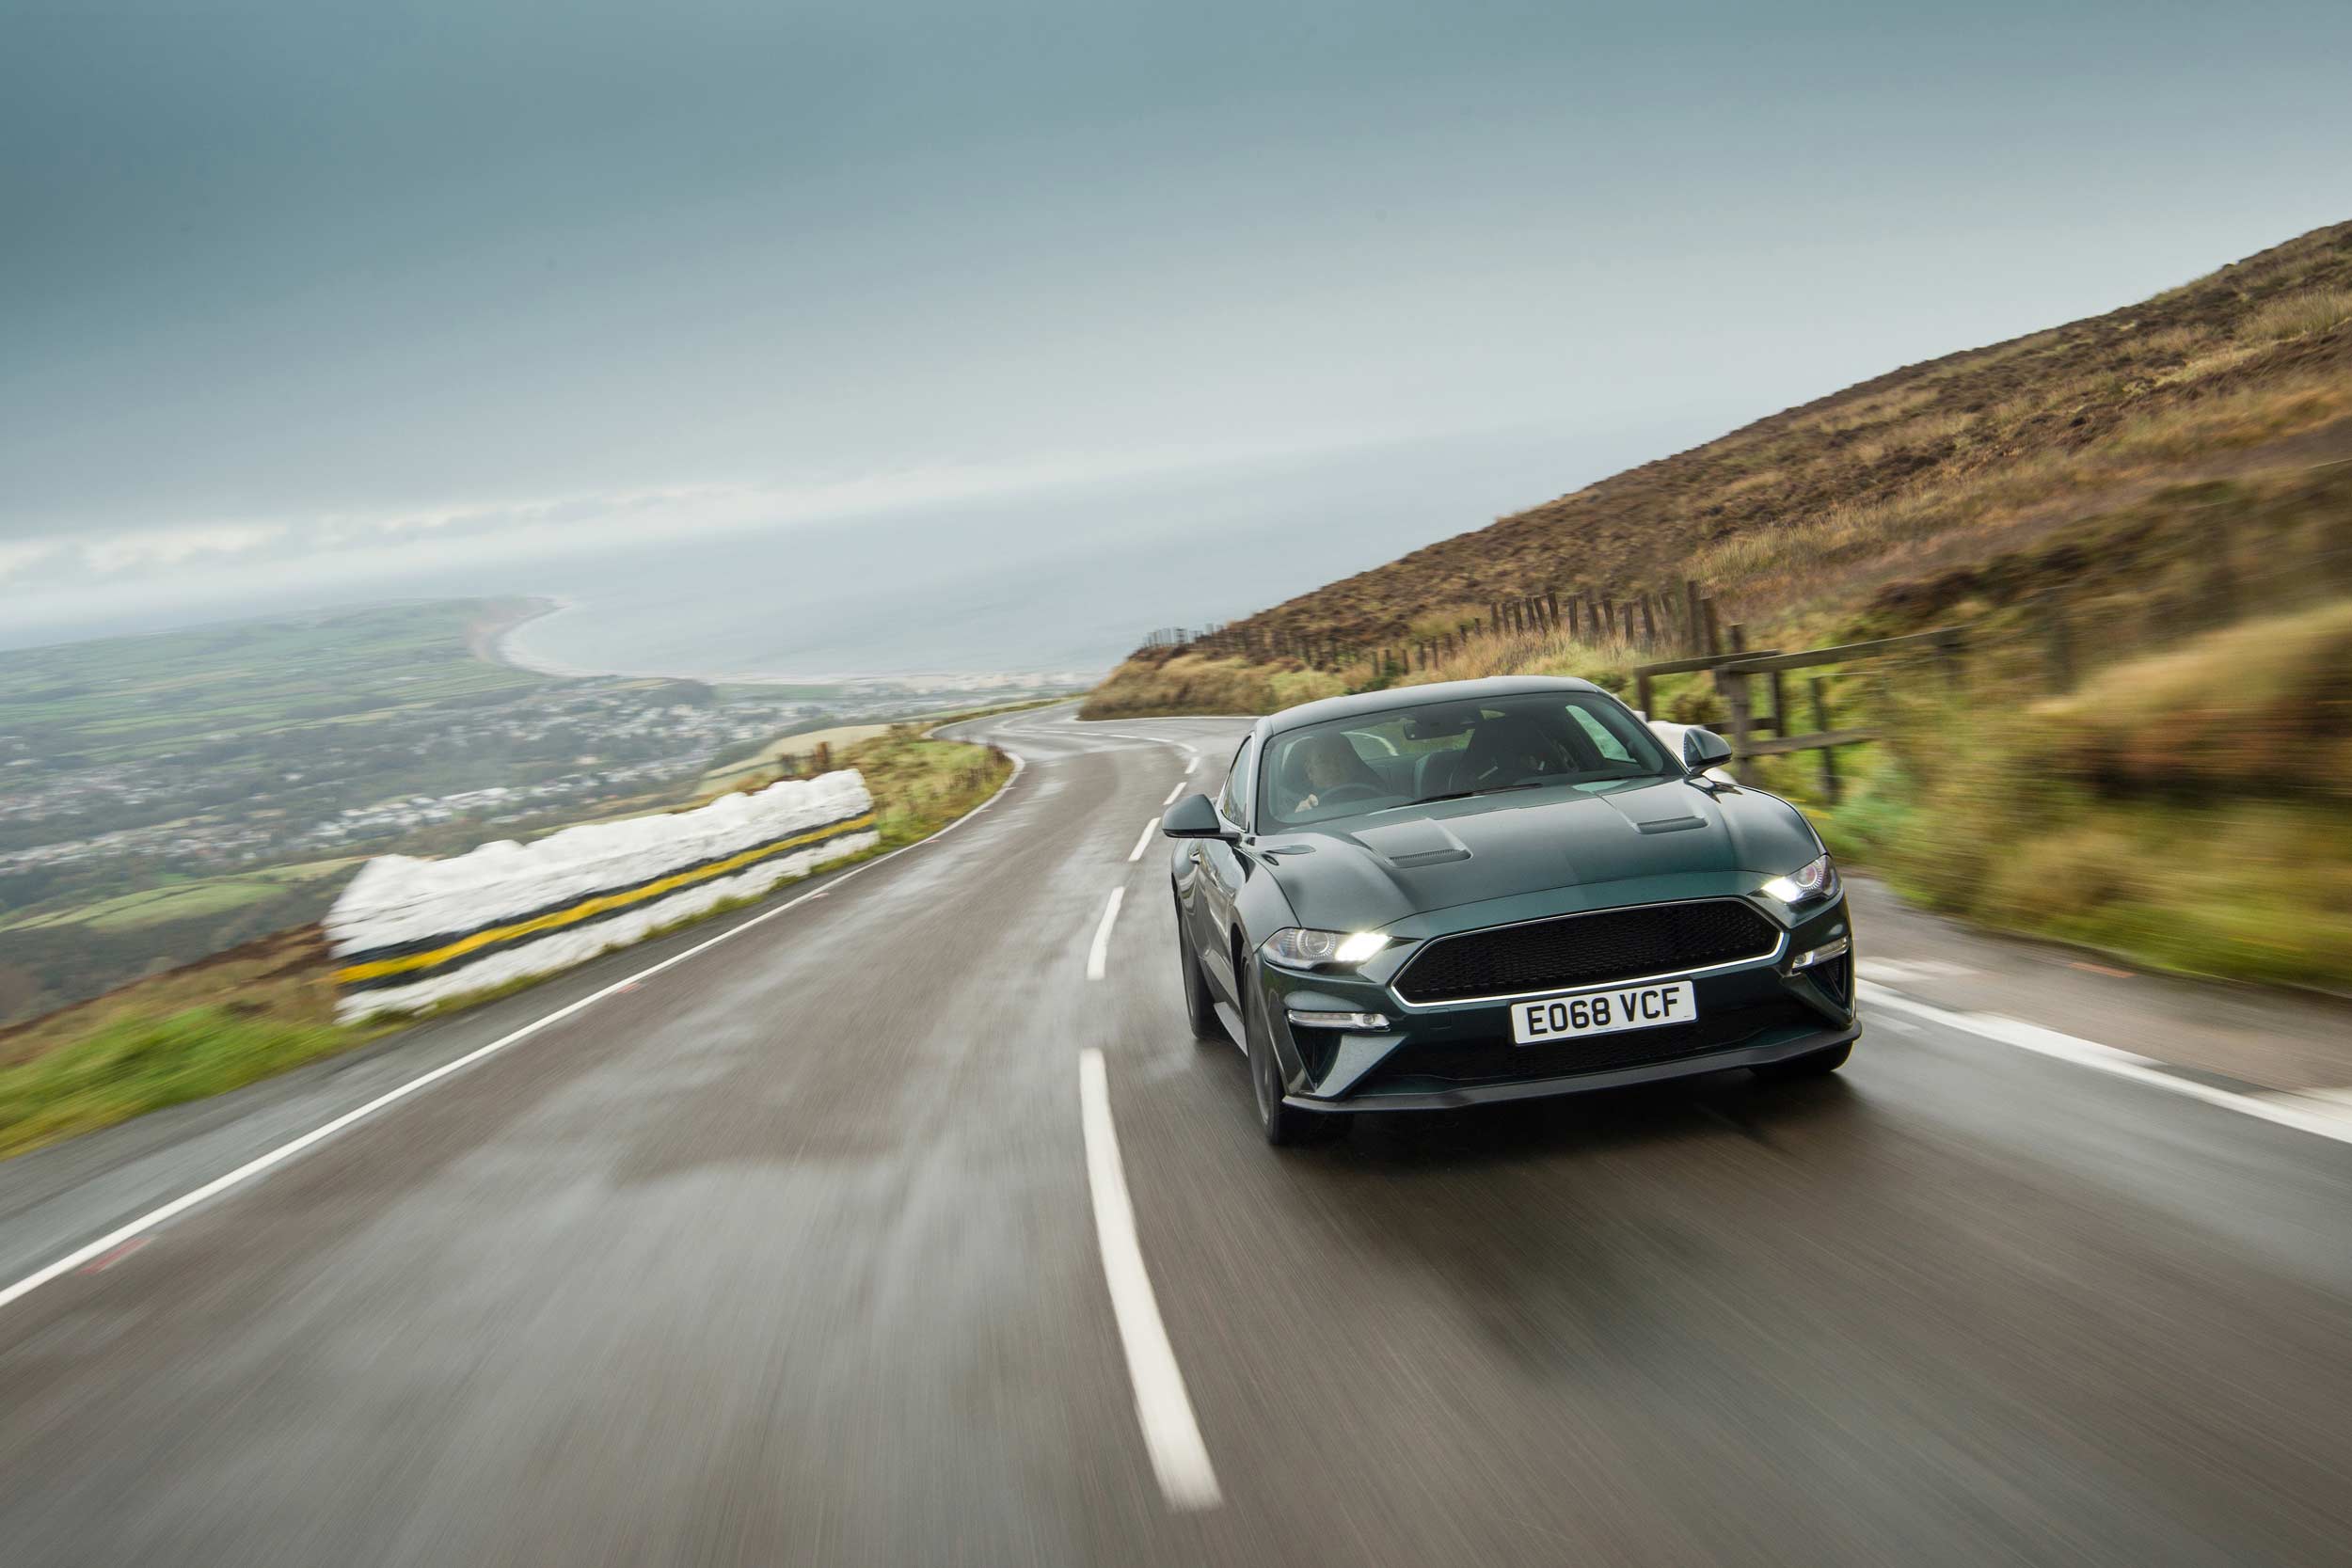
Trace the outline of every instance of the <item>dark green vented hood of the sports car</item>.
{"label": "dark green vented hood of the sports car", "polygon": [[1780,875],[1820,853],[1795,806],[1661,780],[1437,802],[1265,835],[1303,926],[1369,931],[1406,914],[1684,872]]}

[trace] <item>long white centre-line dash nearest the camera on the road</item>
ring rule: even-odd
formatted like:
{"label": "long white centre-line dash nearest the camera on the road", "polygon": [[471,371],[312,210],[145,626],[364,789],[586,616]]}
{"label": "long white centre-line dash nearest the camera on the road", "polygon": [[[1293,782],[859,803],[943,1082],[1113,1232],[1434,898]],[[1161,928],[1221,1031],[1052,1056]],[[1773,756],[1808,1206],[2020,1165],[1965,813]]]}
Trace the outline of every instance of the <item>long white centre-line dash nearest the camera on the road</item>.
{"label": "long white centre-line dash nearest the camera on the road", "polygon": [[1143,1267],[1136,1208],[1127,1201],[1127,1171],[1120,1166],[1120,1128],[1110,1121],[1110,1079],[1103,1074],[1103,1053],[1094,1048],[1077,1053],[1077,1112],[1087,1133],[1094,1239],[1103,1248],[1103,1279],[1110,1284],[1110,1314],[1127,1349],[1143,1448],[1152,1455],[1160,1495],[1171,1509],[1214,1509],[1223,1502],[1216,1469],[1209,1465],[1209,1446],[1200,1441],[1192,1399],[1183,1389],[1152,1276]]}

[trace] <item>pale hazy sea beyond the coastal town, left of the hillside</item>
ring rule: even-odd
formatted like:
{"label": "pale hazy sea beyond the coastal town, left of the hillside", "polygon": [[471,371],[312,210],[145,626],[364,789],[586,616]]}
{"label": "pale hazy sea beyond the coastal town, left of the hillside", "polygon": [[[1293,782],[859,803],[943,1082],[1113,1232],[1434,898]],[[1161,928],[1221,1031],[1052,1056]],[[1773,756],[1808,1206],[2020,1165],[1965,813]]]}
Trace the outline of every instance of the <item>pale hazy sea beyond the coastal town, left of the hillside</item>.
{"label": "pale hazy sea beyond the coastal town, left of the hillside", "polygon": [[[1698,428],[1698,425],[1705,428]],[[1152,628],[1247,616],[1703,440],[1479,437],[1063,489],[546,562],[508,642],[579,672],[1098,672]]]}

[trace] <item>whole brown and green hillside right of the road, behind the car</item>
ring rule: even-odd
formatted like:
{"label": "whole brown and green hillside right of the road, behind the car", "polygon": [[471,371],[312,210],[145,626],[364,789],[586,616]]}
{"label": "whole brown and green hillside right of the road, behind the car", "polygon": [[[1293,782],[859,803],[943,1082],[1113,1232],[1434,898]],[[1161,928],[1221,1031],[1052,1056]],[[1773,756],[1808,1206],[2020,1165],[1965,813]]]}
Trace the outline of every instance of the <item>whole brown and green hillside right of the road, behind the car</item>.
{"label": "whole brown and green hillside right of the road, behind the car", "polygon": [[[1886,733],[1837,755],[1835,806],[1818,755],[1748,766],[1907,893],[2145,964],[2352,985],[2352,223],[1889,371],[1216,642],[1141,649],[1087,712],[1498,672],[1625,691],[1684,649],[1590,621],[1498,632],[1489,604],[1689,578],[1745,646],[1966,630],[1957,686],[1900,663],[1823,672],[1835,726]],[[1371,656],[1468,621],[1486,625],[1435,658]],[[1263,656],[1284,644],[1312,654]],[[1653,708],[1726,717],[1705,675],[1661,682]]]}

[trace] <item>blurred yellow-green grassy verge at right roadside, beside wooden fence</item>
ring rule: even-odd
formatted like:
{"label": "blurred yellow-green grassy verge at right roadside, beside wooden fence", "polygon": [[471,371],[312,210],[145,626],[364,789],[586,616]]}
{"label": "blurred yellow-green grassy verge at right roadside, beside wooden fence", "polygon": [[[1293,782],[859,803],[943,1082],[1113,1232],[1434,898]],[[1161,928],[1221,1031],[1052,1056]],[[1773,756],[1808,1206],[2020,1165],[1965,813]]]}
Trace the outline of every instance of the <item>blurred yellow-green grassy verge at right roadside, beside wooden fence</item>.
{"label": "blurred yellow-green grassy verge at right roadside, beside wooden fence", "polygon": [[1750,776],[1839,856],[1987,929],[2143,969],[2352,985],[2352,604],[2209,632],[2044,701],[1891,705],[1884,745]]}

